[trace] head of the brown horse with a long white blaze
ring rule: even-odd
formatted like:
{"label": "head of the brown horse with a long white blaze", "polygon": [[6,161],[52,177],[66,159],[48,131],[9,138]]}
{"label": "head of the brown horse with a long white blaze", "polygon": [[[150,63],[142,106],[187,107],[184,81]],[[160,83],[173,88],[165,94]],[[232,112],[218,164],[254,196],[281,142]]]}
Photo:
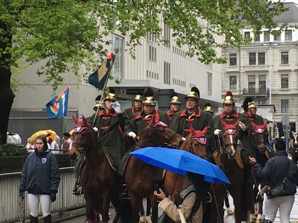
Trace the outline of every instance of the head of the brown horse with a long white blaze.
{"label": "head of the brown horse with a long white blaze", "polygon": [[227,153],[229,159],[234,159],[237,151],[238,131],[237,127],[240,119],[233,125],[226,124],[221,120],[223,126],[223,144],[221,152]]}

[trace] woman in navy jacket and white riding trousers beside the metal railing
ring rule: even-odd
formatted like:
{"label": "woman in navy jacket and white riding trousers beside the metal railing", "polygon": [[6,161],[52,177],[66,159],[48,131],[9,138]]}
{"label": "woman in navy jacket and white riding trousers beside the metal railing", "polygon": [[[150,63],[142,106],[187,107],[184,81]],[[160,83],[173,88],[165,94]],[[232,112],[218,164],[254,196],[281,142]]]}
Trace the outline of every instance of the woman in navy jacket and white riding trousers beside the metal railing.
{"label": "woman in navy jacket and white riding trousers beside the metal railing", "polygon": [[47,145],[47,138],[40,135],[35,141],[35,151],[28,155],[21,174],[19,197],[28,191],[30,222],[38,222],[38,206],[41,204],[45,223],[51,223],[51,202],[56,200],[60,182],[58,162]]}

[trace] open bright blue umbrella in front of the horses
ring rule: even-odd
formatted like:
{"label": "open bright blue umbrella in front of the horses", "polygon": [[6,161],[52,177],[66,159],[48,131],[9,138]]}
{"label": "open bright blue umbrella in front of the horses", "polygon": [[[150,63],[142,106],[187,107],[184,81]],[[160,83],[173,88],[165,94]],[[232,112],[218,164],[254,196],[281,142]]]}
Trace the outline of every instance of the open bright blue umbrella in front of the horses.
{"label": "open bright blue umbrella in front of the horses", "polygon": [[205,181],[230,184],[224,172],[216,165],[193,153],[180,149],[144,147],[130,152],[141,161],[181,175],[187,171],[204,175]]}

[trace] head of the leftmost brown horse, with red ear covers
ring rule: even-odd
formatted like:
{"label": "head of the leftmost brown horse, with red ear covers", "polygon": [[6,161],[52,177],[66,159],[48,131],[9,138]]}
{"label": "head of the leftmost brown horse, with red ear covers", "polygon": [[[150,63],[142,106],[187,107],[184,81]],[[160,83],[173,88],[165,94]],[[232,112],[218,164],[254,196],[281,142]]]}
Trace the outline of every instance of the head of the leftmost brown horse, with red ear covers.
{"label": "head of the leftmost brown horse, with red ear covers", "polygon": [[75,160],[79,153],[87,150],[88,148],[92,148],[93,145],[98,142],[98,137],[84,116],[82,116],[81,120],[77,120],[74,116],[72,116],[72,118],[76,125],[72,137],[73,143],[69,154],[71,159]]}

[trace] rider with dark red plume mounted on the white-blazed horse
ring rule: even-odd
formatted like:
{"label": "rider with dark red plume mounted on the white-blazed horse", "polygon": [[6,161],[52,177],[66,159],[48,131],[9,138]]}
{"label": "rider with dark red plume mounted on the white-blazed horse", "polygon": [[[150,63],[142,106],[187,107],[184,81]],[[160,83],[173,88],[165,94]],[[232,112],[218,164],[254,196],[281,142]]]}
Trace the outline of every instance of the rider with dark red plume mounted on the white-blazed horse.
{"label": "rider with dark red plume mounted on the white-blazed horse", "polygon": [[252,126],[246,115],[238,113],[235,109],[235,101],[233,100],[233,95],[230,91],[226,92],[226,96],[223,102],[224,111],[222,114],[217,115],[214,118],[214,134],[217,136],[222,136],[223,126],[221,121],[226,124],[232,125],[239,121],[238,138],[242,144],[242,149],[240,150],[242,162],[244,164],[244,175],[245,180],[248,180],[250,171],[249,156],[255,157],[254,150],[250,146],[249,137],[252,132]]}

